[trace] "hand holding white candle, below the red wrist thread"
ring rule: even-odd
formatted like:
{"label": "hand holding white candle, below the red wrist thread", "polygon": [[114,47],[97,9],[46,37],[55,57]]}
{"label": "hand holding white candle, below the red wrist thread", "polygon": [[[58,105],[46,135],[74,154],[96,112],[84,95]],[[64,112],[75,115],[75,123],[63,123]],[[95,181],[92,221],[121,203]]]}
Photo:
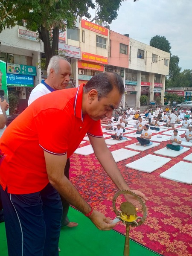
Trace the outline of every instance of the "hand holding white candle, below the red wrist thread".
{"label": "hand holding white candle, below the red wrist thread", "polygon": [[105,215],[98,211],[93,211],[89,218],[99,230],[111,230],[116,226],[116,224],[112,224],[113,220],[106,218]]}

